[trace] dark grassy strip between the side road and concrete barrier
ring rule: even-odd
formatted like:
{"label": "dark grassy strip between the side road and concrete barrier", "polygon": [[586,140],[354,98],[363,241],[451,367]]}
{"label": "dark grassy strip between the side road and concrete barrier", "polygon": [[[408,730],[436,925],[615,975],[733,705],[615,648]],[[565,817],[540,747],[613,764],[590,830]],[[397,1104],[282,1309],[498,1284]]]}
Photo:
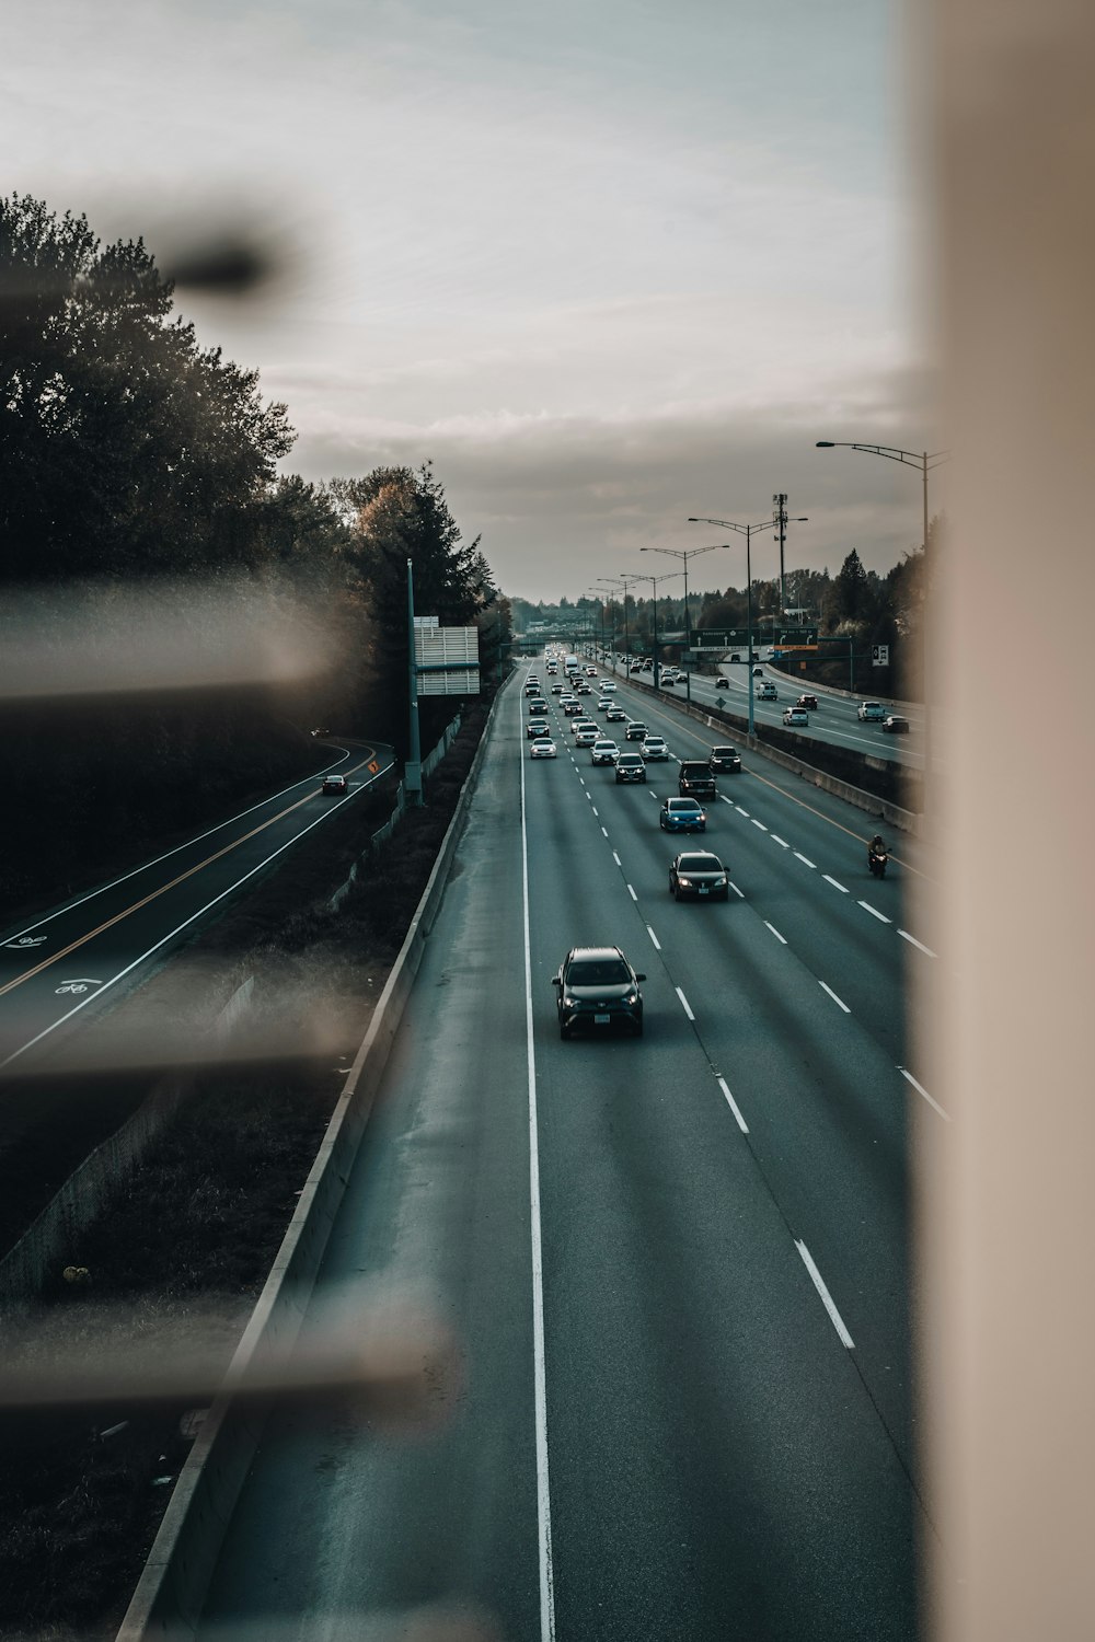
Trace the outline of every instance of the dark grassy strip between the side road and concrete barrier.
{"label": "dark grassy strip between the side road and concrete barrier", "polygon": [[[327,901],[378,824],[355,805],[192,944],[186,962],[200,965],[205,988],[210,969],[218,974],[218,1003],[245,974],[261,972],[279,997],[296,988],[307,1010],[320,974],[328,1002],[343,1007],[343,1053],[356,1049],[484,718],[484,706],[466,714],[428,782],[427,808],[404,818],[338,913]],[[171,1010],[179,974],[179,995],[194,993],[199,970],[186,979],[186,964],[171,964],[123,1008],[135,1020]],[[87,1284],[74,1287],[56,1273],[8,1358],[79,1360],[105,1350],[125,1360],[154,1338],[167,1355],[184,1345],[220,1353],[227,1365],[338,1097],[337,1059],[328,1051],[323,1064],[281,1074],[269,1066],[258,1074],[207,1071],[117,1202],[59,1263],[87,1268]],[[0,1632],[49,1642],[113,1637],[189,1448],[182,1414],[118,1407],[25,1433],[0,1476]]]}

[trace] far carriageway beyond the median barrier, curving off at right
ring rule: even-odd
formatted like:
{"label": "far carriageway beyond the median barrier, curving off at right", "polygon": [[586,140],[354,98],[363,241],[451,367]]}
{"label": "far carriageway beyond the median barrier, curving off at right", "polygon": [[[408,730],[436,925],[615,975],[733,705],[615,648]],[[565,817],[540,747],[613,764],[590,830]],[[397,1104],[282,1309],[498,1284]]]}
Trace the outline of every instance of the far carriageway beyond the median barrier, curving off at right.
{"label": "far carriageway beyond the median barrier, curving off at right", "polygon": [[[614,675],[617,680],[627,677],[622,662],[616,663]],[[739,713],[745,718],[749,714],[749,668],[742,663],[727,665],[721,677],[727,681],[726,690],[716,688],[712,675],[693,673],[693,703],[701,708],[714,708],[719,699],[722,699],[727,713]],[[893,711],[908,718],[911,726],[906,736],[893,736],[888,731],[883,731],[882,724],[860,724],[855,716],[859,701],[882,701],[887,704],[887,711],[890,711],[885,696],[872,695],[870,678],[867,678],[864,693],[855,699],[836,695],[836,691],[826,690],[824,685],[799,683],[786,673],[778,672],[778,668],[767,665],[762,667],[762,677],[754,678],[755,691],[760,690],[760,685],[765,683],[765,680],[775,685],[778,699],[762,701],[758,695],[755,696],[754,719],[758,726],[775,724],[781,727],[783,709],[793,706],[803,691],[809,691],[818,696],[819,709],[816,713],[811,711],[809,726],[795,727],[796,736],[827,741],[837,747],[849,747],[852,752],[865,752],[872,759],[890,759],[896,764],[905,764],[913,770],[924,768],[923,704],[896,703],[893,706]],[[629,681],[637,685],[640,690],[653,693],[652,673],[630,675]],[[658,693],[685,701],[683,685],[665,685]],[[727,739],[732,741],[732,734]]]}

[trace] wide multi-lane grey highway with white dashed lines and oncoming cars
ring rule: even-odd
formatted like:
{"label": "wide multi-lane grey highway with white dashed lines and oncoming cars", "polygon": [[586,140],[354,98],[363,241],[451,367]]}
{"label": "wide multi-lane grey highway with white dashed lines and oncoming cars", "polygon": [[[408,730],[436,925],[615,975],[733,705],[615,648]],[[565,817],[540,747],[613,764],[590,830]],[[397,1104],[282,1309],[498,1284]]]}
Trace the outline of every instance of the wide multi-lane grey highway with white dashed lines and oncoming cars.
{"label": "wide multi-lane grey highway with white dashed lines and oncoming cars", "polygon": [[[949,1113],[909,1066],[903,974],[939,957],[905,885],[931,860],[901,842],[870,880],[865,818],[755,759],[709,806],[729,903],[678,905],[676,765],[617,787],[550,699],[557,760],[519,683],[496,711],[314,1300],[424,1300],[463,1386],[414,1442],[271,1422],[202,1634],[455,1598],[512,1642],[913,1639],[906,1121]],[[645,972],[642,1039],[560,1041],[584,943]]]}

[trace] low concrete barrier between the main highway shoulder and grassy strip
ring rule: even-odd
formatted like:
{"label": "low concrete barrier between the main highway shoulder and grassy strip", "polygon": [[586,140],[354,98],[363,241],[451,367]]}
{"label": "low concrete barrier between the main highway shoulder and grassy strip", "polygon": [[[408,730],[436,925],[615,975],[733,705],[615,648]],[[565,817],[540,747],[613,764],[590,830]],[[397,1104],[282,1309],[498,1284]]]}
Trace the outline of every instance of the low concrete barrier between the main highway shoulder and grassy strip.
{"label": "low concrete barrier between the main highway shoulder and grassy strip", "polygon": [[504,693],[502,688],[494,698],[483,726],[428,883],[346,1076],[289,1230],[236,1346],[225,1389],[179,1473],[117,1642],[143,1642],[151,1637],[181,1642],[197,1634],[220,1547],[266,1424],[266,1414],[235,1407],[231,1386],[259,1350],[264,1358],[277,1360],[286,1358],[296,1345],[373,1100],[422,964],[424,946],[437,920],[494,713]]}

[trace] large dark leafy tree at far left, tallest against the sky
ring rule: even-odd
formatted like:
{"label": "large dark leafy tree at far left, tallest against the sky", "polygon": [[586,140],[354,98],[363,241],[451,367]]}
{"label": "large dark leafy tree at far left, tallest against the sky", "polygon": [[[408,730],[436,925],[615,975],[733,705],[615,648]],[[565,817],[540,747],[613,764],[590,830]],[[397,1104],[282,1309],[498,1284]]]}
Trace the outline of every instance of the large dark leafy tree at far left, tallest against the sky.
{"label": "large dark leafy tree at far left, tallest against the sky", "polygon": [[294,433],[258,373],[199,346],[141,240],[0,199],[3,576],[254,563]]}

